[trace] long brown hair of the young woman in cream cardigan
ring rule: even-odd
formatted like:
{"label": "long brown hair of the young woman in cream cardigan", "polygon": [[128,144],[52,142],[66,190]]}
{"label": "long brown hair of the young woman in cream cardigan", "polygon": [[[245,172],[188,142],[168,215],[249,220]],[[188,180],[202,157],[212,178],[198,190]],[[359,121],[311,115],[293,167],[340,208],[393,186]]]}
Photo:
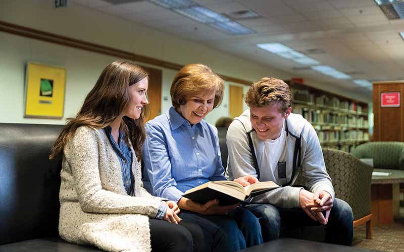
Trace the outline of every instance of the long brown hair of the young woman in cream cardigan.
{"label": "long brown hair of the young woman in cream cardigan", "polygon": [[[66,127],[56,140],[49,159],[56,159],[62,154],[65,144],[79,127],[104,129],[111,124],[130,101],[129,86],[145,77],[148,78],[148,73],[129,61],[115,61],[108,65],[87,94],[76,117],[66,119]],[[144,118],[147,113],[148,106],[145,105],[139,119],[124,116],[121,123],[121,129],[132,142],[138,160],[145,139]]]}

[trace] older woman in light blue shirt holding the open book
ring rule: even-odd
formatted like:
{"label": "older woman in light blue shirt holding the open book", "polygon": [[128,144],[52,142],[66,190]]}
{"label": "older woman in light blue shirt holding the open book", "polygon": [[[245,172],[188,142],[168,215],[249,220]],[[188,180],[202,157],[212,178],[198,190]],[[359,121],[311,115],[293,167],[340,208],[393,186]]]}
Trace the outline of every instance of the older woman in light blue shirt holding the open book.
{"label": "older woman in light blue shirt holding the open book", "polygon": [[262,243],[258,218],[237,205],[182,197],[197,185],[226,179],[217,129],[204,120],[221,103],[223,90],[224,81],[207,66],[190,64],[177,73],[173,106],[146,123],[143,181],[151,194],[176,202],[183,220],[204,230],[212,244],[207,250],[235,251]]}

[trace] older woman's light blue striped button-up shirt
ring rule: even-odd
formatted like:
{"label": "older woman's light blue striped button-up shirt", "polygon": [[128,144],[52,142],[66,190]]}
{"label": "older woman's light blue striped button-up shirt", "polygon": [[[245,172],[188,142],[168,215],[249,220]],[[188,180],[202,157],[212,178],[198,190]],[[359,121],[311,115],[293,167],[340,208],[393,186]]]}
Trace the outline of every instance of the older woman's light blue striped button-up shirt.
{"label": "older woman's light blue striped button-up shirt", "polygon": [[143,161],[146,190],[175,202],[190,188],[226,180],[217,129],[205,120],[191,125],[173,107],[146,123]]}

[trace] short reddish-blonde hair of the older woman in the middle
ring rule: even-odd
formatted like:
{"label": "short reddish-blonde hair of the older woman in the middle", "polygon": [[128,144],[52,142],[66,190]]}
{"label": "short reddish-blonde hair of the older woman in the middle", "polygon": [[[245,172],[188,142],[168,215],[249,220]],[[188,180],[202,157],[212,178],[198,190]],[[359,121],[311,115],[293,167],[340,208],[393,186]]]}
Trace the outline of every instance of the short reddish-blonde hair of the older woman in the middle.
{"label": "short reddish-blonde hair of the older woman in the middle", "polygon": [[188,64],[174,77],[170,95],[174,108],[184,105],[186,97],[198,92],[215,92],[213,108],[223,99],[224,80],[203,64]]}

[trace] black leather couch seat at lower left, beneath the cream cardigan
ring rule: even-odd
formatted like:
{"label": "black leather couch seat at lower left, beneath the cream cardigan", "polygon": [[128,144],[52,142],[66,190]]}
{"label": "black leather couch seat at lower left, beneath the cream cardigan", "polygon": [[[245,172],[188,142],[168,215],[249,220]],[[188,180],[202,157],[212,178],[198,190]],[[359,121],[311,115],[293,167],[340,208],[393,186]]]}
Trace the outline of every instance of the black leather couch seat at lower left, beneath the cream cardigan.
{"label": "black leather couch seat at lower left, beneath the cream cardigan", "polygon": [[0,245],[0,252],[95,252],[102,251],[96,247],[68,243],[59,237],[25,240],[6,245]]}

